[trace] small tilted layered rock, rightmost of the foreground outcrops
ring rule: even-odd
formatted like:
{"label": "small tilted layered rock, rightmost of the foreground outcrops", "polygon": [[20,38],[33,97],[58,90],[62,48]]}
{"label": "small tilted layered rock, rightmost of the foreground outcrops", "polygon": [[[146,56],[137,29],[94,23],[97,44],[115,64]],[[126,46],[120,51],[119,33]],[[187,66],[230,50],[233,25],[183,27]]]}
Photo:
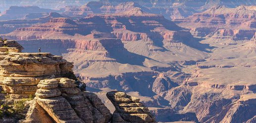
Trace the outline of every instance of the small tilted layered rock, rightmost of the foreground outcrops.
{"label": "small tilted layered rock, rightmost of the foreground outcrops", "polygon": [[117,91],[107,92],[106,96],[115,106],[112,123],[156,123],[139,98]]}

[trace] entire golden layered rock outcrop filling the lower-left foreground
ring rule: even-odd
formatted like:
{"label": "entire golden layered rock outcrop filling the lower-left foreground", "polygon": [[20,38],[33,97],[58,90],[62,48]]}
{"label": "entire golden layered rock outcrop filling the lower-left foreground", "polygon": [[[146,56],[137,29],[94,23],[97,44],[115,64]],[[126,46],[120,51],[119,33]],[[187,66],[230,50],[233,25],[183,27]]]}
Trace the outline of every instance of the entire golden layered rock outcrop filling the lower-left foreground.
{"label": "entire golden layered rock outcrop filling the lower-left foreground", "polygon": [[[16,41],[0,42],[0,91],[11,100],[35,96],[21,123],[155,123],[154,116],[136,97],[108,92],[116,111],[102,100],[77,88],[73,64],[50,53],[21,53]],[[1,97],[1,103],[6,99]],[[9,101],[9,105],[13,102]],[[4,109],[3,109],[4,110]],[[1,122],[18,122],[0,119]]]}

